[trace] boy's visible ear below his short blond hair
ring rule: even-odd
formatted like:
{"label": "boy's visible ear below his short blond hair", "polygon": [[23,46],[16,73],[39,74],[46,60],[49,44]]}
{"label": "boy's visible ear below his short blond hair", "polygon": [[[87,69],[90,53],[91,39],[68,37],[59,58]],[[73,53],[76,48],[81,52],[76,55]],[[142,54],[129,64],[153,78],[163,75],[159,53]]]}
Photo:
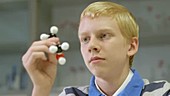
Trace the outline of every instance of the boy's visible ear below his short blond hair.
{"label": "boy's visible ear below his short blond hair", "polygon": [[138,51],[138,47],[139,47],[139,40],[137,37],[133,37],[131,42],[129,42],[129,49],[127,55],[129,57],[135,55],[135,53]]}

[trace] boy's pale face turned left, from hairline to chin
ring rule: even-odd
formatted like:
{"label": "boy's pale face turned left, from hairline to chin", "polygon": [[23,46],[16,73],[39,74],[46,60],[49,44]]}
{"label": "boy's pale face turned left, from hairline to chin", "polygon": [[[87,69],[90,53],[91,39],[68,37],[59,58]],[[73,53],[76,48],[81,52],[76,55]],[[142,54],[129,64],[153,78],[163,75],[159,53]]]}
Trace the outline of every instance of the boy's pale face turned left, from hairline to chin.
{"label": "boy's pale face turned left, from hairline to chin", "polygon": [[92,74],[107,78],[129,69],[129,45],[115,20],[84,17],[78,35],[82,56]]}

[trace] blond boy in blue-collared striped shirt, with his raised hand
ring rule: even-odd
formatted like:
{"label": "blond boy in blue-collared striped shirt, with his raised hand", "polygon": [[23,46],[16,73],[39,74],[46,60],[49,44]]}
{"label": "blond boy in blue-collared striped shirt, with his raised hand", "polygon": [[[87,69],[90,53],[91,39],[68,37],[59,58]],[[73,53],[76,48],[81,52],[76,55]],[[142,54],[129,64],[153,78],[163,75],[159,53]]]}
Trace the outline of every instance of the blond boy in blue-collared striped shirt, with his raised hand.
{"label": "blond boy in blue-collared striped shirt, with his raised hand", "polygon": [[[149,84],[131,69],[138,32],[134,16],[125,7],[113,2],[90,4],[81,14],[78,30],[84,62],[93,74],[90,85],[65,88],[59,96],[169,96],[168,82]],[[22,58],[34,85],[32,96],[50,94],[57,61],[48,47],[58,42],[59,38],[36,41]]]}

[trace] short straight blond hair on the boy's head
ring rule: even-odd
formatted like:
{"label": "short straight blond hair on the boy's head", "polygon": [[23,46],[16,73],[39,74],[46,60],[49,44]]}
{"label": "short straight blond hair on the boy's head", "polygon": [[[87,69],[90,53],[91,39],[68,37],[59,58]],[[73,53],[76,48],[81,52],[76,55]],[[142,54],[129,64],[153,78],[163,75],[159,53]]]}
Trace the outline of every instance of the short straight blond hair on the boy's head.
{"label": "short straight blond hair on the boy's head", "polygon": [[[100,16],[108,16],[116,20],[122,36],[127,42],[131,42],[132,37],[139,38],[139,26],[132,13],[124,6],[108,2],[94,2],[87,6],[81,14],[80,21],[83,17],[90,16],[96,18]],[[129,64],[132,66],[133,57],[129,58]]]}

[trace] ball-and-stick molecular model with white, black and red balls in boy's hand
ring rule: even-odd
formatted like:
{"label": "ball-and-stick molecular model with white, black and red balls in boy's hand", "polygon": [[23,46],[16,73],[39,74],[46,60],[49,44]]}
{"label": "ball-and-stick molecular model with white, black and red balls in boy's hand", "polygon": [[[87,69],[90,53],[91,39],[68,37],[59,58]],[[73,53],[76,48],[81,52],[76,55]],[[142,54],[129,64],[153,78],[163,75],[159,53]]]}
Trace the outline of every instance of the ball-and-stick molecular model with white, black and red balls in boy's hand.
{"label": "ball-and-stick molecular model with white, black and red balls in boy's hand", "polygon": [[[56,26],[52,26],[50,28],[50,33],[49,34],[41,34],[40,39],[41,40],[46,40],[51,37],[57,37],[58,33],[58,28]],[[49,47],[49,51],[51,53],[56,53],[56,59],[58,60],[58,63],[60,65],[64,65],[66,63],[66,59],[64,57],[63,51],[66,51],[69,49],[69,44],[67,42],[63,42],[62,44],[58,45],[51,45]]]}

